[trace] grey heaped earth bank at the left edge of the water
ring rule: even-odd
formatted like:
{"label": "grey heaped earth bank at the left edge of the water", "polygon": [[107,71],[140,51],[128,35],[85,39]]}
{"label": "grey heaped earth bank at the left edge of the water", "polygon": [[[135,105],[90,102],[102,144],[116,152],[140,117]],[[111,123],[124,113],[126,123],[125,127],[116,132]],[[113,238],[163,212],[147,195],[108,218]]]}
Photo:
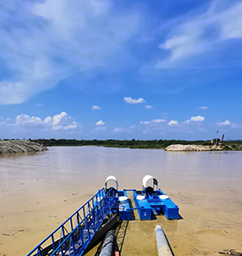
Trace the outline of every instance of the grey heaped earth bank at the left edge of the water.
{"label": "grey heaped earth bank at the left edge of the water", "polygon": [[0,154],[40,152],[45,150],[48,150],[48,148],[34,141],[0,141]]}

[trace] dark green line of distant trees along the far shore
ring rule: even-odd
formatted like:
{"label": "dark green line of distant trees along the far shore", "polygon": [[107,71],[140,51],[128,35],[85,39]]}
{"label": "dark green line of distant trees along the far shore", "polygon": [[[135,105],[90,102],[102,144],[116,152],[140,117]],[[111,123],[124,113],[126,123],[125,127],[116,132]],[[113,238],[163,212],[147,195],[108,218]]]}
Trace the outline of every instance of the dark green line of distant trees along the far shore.
{"label": "dark green line of distant trees along the far shore", "polygon": [[[30,140],[30,139],[29,139]],[[97,146],[109,148],[167,148],[172,144],[182,145],[207,145],[210,141],[185,141],[185,140],[55,140],[55,139],[38,139],[31,140],[40,143],[45,147],[53,146]],[[225,150],[242,150],[242,141],[224,141]]]}

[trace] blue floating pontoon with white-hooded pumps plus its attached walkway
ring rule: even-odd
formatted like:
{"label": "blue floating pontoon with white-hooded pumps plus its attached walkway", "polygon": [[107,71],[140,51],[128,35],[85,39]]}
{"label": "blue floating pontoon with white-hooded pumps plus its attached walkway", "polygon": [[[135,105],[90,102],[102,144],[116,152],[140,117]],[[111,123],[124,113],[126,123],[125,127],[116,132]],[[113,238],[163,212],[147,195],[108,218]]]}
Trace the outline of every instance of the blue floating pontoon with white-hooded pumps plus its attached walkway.
{"label": "blue floating pontoon with white-hooded pumps plus its attached walkway", "polygon": [[[111,181],[115,183],[116,188],[108,187]],[[147,187],[148,181],[153,181],[153,187]],[[134,208],[131,207],[127,191],[133,194],[136,204]],[[118,221],[131,220],[131,213],[136,209],[140,220],[152,220],[160,213],[168,220],[178,220],[179,207],[158,189],[156,178],[150,175],[143,177],[143,190],[140,191],[118,190],[118,180],[111,175],[105,180],[105,187],[86,201],[27,256],[81,256],[97,244]]]}

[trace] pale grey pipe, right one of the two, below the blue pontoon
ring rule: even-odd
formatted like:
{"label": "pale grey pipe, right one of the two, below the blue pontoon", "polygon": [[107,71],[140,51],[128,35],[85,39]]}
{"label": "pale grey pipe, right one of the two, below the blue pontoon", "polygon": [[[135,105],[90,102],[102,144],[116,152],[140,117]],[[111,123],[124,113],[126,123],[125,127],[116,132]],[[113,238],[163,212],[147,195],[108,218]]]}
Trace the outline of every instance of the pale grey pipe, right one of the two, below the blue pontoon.
{"label": "pale grey pipe, right one of the two, below the blue pontoon", "polygon": [[156,226],[156,245],[159,256],[173,256],[161,225]]}

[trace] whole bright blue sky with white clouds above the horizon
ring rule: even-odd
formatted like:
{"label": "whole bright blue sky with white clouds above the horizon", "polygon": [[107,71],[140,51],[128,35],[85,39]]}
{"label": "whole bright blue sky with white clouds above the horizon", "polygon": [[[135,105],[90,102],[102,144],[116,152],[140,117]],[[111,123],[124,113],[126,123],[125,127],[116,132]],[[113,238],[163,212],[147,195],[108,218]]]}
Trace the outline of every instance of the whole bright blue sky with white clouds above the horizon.
{"label": "whole bright blue sky with white clouds above the horizon", "polygon": [[242,2],[1,0],[4,138],[242,139]]}

